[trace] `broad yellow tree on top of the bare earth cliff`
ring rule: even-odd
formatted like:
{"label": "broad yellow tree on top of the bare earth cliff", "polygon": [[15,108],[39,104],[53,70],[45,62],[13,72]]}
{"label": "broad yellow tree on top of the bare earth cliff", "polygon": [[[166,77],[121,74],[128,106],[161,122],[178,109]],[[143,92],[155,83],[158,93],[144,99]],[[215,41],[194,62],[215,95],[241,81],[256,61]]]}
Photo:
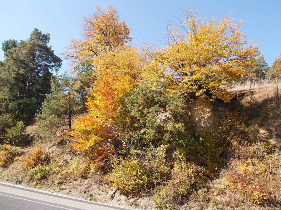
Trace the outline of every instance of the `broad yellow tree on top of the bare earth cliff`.
{"label": "broad yellow tree on top of the bare earth cliff", "polygon": [[168,25],[166,48],[145,50],[148,79],[189,99],[229,101],[227,89],[253,66],[258,46],[245,40],[241,22],[234,25],[229,16],[217,22],[188,11],[180,23],[183,32]]}

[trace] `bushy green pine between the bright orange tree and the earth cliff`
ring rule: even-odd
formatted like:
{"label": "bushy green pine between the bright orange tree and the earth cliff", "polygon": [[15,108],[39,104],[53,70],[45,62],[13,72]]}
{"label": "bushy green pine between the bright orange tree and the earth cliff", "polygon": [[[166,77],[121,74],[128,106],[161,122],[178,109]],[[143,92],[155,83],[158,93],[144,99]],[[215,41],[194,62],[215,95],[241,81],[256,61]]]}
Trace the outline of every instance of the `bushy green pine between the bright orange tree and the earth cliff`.
{"label": "bushy green pine between the bright orange tree and the earth cliff", "polygon": [[132,135],[128,136],[131,147],[137,142],[140,145],[176,145],[188,138],[186,105],[180,94],[153,90],[142,84],[125,102],[132,130]]}

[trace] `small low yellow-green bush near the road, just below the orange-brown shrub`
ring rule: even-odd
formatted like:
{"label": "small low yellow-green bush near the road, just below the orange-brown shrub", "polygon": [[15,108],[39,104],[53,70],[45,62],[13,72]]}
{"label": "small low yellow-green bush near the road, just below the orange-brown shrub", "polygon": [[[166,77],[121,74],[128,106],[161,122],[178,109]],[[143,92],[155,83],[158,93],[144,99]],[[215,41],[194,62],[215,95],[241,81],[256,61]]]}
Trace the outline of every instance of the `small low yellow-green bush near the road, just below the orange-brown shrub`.
{"label": "small low yellow-green bush near the road, just below the orange-brown shrub", "polygon": [[38,165],[28,171],[30,180],[45,180],[50,175],[54,174],[52,166],[41,166]]}

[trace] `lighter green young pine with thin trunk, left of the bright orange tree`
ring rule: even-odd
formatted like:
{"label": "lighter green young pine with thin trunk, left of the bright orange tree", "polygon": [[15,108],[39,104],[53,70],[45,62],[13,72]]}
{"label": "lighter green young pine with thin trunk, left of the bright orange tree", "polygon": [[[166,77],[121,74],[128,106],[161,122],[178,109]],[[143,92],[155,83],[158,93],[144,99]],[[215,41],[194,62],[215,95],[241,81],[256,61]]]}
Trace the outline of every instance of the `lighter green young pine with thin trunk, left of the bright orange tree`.
{"label": "lighter green young pine with thin trunk, left of the bright orange tree", "polygon": [[64,73],[51,78],[51,93],[42,104],[42,113],[36,114],[37,126],[45,137],[55,136],[63,129],[71,129],[73,114],[83,111],[83,102],[76,93],[76,81]]}

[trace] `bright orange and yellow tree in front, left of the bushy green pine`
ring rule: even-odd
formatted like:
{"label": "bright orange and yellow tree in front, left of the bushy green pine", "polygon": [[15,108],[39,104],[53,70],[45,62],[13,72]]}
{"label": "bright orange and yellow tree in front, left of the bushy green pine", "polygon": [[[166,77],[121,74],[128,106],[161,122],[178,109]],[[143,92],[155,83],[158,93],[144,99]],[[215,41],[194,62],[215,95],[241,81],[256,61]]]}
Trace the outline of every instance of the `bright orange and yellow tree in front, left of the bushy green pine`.
{"label": "bright orange and yellow tree in front, left of the bushy green pine", "polygon": [[133,82],[130,77],[104,74],[91,91],[85,117],[75,121],[72,136],[73,149],[99,160],[121,150],[126,114],[124,98],[130,95]]}

